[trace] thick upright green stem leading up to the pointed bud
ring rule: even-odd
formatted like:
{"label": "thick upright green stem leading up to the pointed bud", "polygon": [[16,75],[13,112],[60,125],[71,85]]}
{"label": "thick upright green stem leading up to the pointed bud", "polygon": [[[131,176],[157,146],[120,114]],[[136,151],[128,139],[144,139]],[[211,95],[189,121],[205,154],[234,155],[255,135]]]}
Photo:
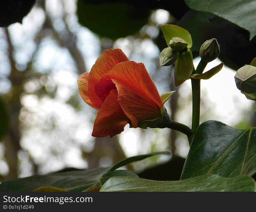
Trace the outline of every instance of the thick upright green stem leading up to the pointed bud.
{"label": "thick upright green stem leading up to the pointed bud", "polygon": [[[193,73],[203,73],[207,63],[200,60],[196,70]],[[192,85],[192,131],[195,133],[196,129],[200,124],[200,79],[191,78]]]}

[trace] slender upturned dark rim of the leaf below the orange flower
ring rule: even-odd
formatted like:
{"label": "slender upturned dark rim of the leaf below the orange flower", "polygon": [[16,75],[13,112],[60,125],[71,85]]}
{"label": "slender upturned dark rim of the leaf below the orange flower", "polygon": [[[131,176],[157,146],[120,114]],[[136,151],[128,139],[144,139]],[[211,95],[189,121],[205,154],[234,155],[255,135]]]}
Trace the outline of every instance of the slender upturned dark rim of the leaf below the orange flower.
{"label": "slender upturned dark rim of the leaf below the orange flower", "polygon": [[136,162],[136,161],[141,161],[145,158],[151,157],[153,155],[157,155],[157,154],[166,154],[166,155],[170,155],[169,151],[164,151],[164,152],[151,152],[149,154],[141,154],[141,155],[136,155],[136,156],[132,156],[132,157],[127,157],[126,159],[123,159],[122,161],[119,161],[118,163],[116,163],[115,165],[113,165],[109,171],[113,171],[117,168],[120,168],[122,166],[125,166],[127,164],[130,164],[132,162]]}

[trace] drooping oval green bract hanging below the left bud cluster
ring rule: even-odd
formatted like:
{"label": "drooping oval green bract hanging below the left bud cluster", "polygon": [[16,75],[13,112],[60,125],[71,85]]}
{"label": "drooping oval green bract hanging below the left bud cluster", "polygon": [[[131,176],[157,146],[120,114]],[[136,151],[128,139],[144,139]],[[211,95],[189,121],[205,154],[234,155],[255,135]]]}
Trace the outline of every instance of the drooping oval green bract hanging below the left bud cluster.
{"label": "drooping oval green bract hanging below the left bud cluster", "polygon": [[175,71],[174,71],[174,79],[175,85],[179,86],[187,79],[190,78],[191,73],[193,72],[194,64],[193,64],[193,56],[190,49],[184,51],[182,53],[178,53],[178,58],[175,61]]}

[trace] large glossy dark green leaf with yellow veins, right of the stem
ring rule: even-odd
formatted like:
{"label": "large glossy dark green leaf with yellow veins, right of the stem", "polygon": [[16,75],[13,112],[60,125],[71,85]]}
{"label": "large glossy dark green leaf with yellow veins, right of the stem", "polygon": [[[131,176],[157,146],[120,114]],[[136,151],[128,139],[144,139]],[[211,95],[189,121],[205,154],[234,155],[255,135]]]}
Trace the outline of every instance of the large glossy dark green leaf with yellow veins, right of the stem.
{"label": "large glossy dark green leaf with yellow veins, right of the stem", "polygon": [[181,179],[208,173],[235,177],[256,172],[256,128],[237,130],[206,121],[195,132]]}

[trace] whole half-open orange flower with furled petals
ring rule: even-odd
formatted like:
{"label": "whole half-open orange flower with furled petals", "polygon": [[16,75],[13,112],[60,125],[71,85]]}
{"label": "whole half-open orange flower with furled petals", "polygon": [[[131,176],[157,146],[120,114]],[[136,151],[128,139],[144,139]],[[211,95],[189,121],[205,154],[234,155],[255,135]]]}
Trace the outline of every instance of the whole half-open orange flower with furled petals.
{"label": "whole half-open orange flower with furled petals", "polygon": [[92,136],[112,138],[127,123],[136,128],[161,117],[163,103],[144,64],[130,61],[121,49],[104,50],[77,84],[83,100],[99,110]]}

